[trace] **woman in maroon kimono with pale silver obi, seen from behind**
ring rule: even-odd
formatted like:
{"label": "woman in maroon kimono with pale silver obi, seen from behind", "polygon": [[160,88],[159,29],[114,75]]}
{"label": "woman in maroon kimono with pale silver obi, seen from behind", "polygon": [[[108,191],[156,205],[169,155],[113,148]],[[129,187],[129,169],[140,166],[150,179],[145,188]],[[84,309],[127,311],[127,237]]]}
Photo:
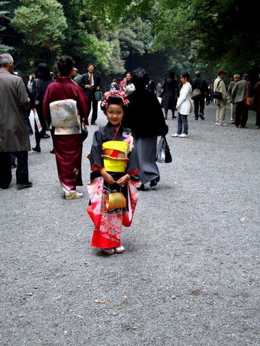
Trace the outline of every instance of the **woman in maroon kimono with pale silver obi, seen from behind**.
{"label": "woman in maroon kimono with pale silver obi, seen from behind", "polygon": [[80,123],[88,125],[87,97],[80,86],[71,80],[74,64],[71,57],[60,57],[57,64],[60,76],[48,86],[44,97],[44,117],[51,128],[58,176],[65,199],[83,196],[76,191],[77,185],[83,185],[83,135]]}

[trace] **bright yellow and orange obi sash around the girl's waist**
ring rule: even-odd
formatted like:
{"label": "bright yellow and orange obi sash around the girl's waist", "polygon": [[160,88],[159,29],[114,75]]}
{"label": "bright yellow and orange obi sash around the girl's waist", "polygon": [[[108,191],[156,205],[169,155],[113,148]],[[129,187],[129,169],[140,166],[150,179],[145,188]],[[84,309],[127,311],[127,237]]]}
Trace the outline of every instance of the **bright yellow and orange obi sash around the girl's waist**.
{"label": "bright yellow and orange obi sash around the girl's waist", "polygon": [[119,140],[103,143],[103,160],[107,172],[125,172],[128,163],[129,144]]}

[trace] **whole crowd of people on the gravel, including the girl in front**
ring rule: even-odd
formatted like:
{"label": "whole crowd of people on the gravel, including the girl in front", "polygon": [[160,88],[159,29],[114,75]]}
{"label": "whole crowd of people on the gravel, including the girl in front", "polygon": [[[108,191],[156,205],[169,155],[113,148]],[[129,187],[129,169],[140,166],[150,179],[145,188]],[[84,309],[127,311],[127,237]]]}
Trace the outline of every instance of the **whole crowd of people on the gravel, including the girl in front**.
{"label": "whole crowd of people on the gravel, including the girl in front", "polygon": [[[137,190],[146,190],[146,184],[153,188],[159,182],[157,138],[168,133],[168,110],[172,118],[177,118],[177,131],[172,136],[187,138],[189,114],[194,111],[195,120],[205,120],[205,100],[210,102],[214,98],[216,125],[225,126],[229,97],[231,122],[239,128],[246,128],[252,102],[249,75],[244,74],[240,79],[236,73],[227,89],[223,70],[218,71],[211,91],[200,71],[196,71],[193,80],[188,72],[180,77],[170,73],[156,86],[149,73],[139,68],[126,73],[119,83],[112,80],[110,90],[102,95],[101,78],[96,75],[94,64],[88,64],[87,73],[80,75],[72,57],[64,55],[57,62],[57,78],[47,64],[41,63],[28,83],[12,73],[13,64],[11,55],[0,55],[0,95],[5,95],[0,97],[0,187],[10,187],[13,158],[17,159],[17,189],[33,186],[28,179],[28,151],[31,150],[28,116],[33,111],[33,151],[41,152],[41,139],[48,138],[46,131],[51,131],[51,152],[55,154],[64,198],[83,197],[76,190],[83,185],[83,141],[87,138],[90,111],[92,109],[91,125],[96,125],[101,101],[107,125],[95,131],[88,156],[91,174],[87,212],[95,226],[92,246],[102,248],[107,255],[124,251],[121,228],[132,222]],[[260,129],[259,91],[260,82],[254,86]]]}

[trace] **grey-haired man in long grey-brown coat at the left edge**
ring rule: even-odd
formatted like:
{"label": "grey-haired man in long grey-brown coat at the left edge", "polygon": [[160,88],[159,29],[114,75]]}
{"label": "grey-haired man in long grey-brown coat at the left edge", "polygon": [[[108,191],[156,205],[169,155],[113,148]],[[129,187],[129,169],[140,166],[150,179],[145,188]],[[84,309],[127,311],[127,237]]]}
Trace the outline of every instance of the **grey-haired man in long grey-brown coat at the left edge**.
{"label": "grey-haired man in long grey-brown coat at the left edge", "polygon": [[12,180],[10,152],[17,156],[17,189],[31,188],[28,181],[28,150],[31,150],[24,114],[30,107],[23,80],[12,75],[10,54],[0,55],[0,187],[9,188]]}

